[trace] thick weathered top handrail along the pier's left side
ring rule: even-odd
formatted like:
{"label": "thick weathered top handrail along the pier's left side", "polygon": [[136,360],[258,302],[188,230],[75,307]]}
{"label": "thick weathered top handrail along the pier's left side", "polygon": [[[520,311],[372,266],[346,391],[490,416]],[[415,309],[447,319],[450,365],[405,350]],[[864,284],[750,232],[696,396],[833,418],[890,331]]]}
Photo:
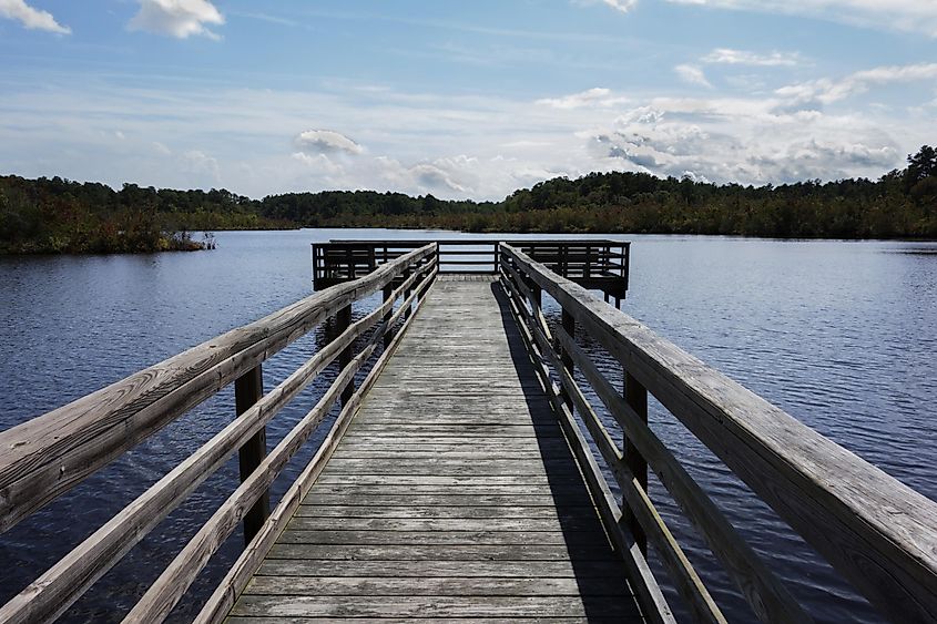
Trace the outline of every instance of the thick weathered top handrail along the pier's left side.
{"label": "thick weathered top handrail along the pier's left side", "polygon": [[435,254],[415,249],[249,325],[0,432],[0,532],[41,509],[338,309]]}

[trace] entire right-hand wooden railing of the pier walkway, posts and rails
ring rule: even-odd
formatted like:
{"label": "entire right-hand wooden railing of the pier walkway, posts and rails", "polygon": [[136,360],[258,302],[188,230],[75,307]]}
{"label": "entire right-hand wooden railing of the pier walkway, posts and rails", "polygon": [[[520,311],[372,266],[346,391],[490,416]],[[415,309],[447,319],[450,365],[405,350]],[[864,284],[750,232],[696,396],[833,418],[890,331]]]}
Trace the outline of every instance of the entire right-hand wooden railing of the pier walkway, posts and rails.
{"label": "entire right-hand wooden railing of the pier walkway, posts and rails", "polygon": [[[500,254],[501,283],[515,316],[540,364],[544,386],[552,389],[554,407],[609,534],[633,554],[625,559],[633,562],[632,574],[650,574],[644,559],[650,543],[694,616],[702,622],[725,621],[649,497],[650,469],[762,621],[811,620],[649,427],[650,393],[883,616],[894,622],[937,621],[937,503],[517,247],[502,244]],[[544,293],[562,308],[561,326],[552,331],[542,313]],[[601,345],[623,368],[623,391],[579,346],[578,331]],[[614,419],[623,448],[613,441],[574,370]],[[611,495],[590,441],[623,500]],[[644,585],[653,589],[653,580]],[[642,591],[640,584],[635,591]],[[648,591],[639,597],[651,608],[663,600]]]}

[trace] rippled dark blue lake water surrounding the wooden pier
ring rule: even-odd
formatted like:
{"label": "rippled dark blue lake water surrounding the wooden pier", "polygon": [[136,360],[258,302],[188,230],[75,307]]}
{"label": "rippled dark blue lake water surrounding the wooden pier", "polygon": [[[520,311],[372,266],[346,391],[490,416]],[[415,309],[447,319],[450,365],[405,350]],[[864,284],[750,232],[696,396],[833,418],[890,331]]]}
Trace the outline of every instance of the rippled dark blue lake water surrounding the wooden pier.
{"label": "rippled dark blue lake water surrounding the wooden pier", "polygon": [[[211,253],[0,259],[0,378],[6,398],[0,402],[0,429],[307,295],[312,242],[395,235],[221,233],[218,248]],[[417,237],[414,232],[401,236]],[[625,311],[937,499],[937,244],[629,239],[634,246]],[[312,335],[271,360],[264,371],[266,387],[285,378],[322,339]],[[601,349],[592,351],[608,375],[620,379]],[[318,390],[304,392],[274,421],[272,443],[305,413]],[[207,440],[232,418],[232,405],[231,391],[222,392],[1,535],[0,601],[22,590]],[[809,548],[754,501],[682,426],[653,407],[654,429],[818,621],[876,621]],[[310,453],[312,448],[306,449],[299,461]],[[274,488],[275,498],[296,474],[293,466]],[[236,463],[228,463],[208,479],[67,620],[119,621],[227,497],[236,474]],[[686,540],[689,555],[730,620],[751,620],[731,582],[705,556],[659,484],[652,483],[652,495],[678,536]],[[195,603],[237,556],[241,541],[240,534],[228,540],[174,620],[185,621],[197,611]]]}

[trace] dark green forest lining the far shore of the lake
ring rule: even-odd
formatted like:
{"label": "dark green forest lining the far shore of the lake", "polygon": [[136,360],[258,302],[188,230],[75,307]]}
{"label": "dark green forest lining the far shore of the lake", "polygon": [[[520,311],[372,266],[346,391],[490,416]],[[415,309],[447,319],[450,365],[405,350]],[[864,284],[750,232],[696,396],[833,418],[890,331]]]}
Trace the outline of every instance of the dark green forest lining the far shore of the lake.
{"label": "dark green forest lining the far shore of the lake", "polygon": [[[501,202],[374,191],[252,200],[60,177],[0,176],[0,253],[203,248],[190,233],[292,227],[403,227],[510,233],[720,234],[780,238],[937,239],[937,151],[877,181],[716,185],[646,173],[558,177]],[[211,243],[208,243],[211,245]]]}

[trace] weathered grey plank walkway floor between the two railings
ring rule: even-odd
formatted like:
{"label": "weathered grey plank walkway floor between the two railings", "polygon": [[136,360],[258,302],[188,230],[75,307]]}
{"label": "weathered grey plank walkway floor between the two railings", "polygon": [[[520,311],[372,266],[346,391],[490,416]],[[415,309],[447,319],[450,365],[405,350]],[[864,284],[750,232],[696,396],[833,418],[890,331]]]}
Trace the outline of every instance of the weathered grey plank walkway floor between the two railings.
{"label": "weathered grey plank walkway floor between the two railings", "polygon": [[442,276],[231,612],[641,620],[501,287]]}

